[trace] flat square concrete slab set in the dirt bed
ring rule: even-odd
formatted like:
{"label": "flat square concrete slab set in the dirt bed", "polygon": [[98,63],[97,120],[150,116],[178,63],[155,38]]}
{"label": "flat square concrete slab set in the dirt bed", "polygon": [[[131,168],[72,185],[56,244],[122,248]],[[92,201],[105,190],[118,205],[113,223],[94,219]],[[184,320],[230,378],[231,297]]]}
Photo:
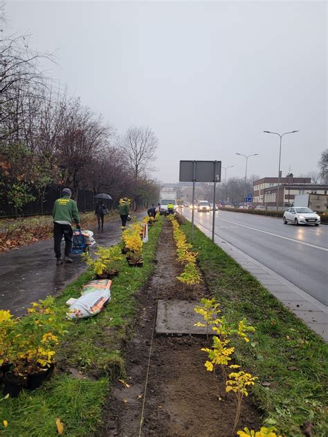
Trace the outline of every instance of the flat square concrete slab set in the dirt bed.
{"label": "flat square concrete slab set in the dirt bed", "polygon": [[158,300],[156,335],[206,335],[206,328],[194,326],[203,317],[194,312],[197,301]]}

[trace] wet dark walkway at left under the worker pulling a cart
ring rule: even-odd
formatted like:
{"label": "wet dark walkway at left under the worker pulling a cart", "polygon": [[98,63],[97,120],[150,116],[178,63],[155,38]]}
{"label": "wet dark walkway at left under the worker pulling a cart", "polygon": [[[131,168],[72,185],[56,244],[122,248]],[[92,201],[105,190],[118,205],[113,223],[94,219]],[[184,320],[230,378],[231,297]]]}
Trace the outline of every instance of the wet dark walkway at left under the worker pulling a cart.
{"label": "wet dark walkway at left under the worker pulling a cart", "polygon": [[[145,212],[137,213],[139,218]],[[92,227],[94,239],[99,245],[113,245],[120,241],[120,220],[104,223],[104,229]],[[95,250],[97,245],[91,247]],[[64,243],[62,252],[64,252]],[[20,316],[37,299],[59,295],[67,283],[73,281],[85,269],[80,254],[71,254],[73,263],[56,266],[53,239],[39,241],[0,255],[0,309],[10,310]]]}

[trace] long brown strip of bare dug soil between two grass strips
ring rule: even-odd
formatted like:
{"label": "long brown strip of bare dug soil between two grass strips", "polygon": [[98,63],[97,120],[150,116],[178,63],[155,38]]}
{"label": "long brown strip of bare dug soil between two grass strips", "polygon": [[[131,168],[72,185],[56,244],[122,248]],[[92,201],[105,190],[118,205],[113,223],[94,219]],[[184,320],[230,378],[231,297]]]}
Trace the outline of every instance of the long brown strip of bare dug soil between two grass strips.
{"label": "long brown strip of bare dug soil between two grass strips", "polygon": [[[203,284],[186,291],[176,280],[181,266],[176,261],[172,227],[167,222],[158,243],[156,261],[154,276],[138,294],[140,313],[135,335],[125,348],[125,382],[129,387],[113,382],[103,417],[103,436],[139,435],[157,297],[197,300],[206,295]],[[226,395],[219,372],[213,378],[203,366],[206,354],[201,347],[204,346],[206,339],[202,338],[154,337],[141,436],[230,436],[235,398]],[[259,423],[259,412],[247,398],[239,429],[257,428]]]}

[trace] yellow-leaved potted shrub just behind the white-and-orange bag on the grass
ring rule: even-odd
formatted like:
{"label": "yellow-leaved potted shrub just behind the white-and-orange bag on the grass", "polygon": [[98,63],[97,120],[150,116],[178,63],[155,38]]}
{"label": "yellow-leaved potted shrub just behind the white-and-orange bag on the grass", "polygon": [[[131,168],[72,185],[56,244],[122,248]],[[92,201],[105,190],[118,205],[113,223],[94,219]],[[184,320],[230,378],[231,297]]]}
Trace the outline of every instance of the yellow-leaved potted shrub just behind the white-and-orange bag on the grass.
{"label": "yellow-leaved potted shrub just behind the white-and-orange bag on the grass", "polygon": [[118,246],[100,247],[95,254],[98,255],[98,258],[91,258],[90,254],[82,254],[82,259],[93,268],[97,279],[111,279],[118,275],[120,261],[123,259]]}

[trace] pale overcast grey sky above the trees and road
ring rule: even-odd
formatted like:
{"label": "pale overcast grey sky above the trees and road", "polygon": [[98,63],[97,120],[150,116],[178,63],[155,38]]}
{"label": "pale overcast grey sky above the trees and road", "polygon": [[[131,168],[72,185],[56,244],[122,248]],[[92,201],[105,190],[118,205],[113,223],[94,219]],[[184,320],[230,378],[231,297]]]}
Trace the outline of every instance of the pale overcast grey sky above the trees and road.
{"label": "pale overcast grey sky above the trees and road", "polygon": [[221,160],[228,176],[317,169],[327,148],[326,1],[7,1],[15,32],[56,50],[51,75],[123,132],[159,139],[156,176]]}

